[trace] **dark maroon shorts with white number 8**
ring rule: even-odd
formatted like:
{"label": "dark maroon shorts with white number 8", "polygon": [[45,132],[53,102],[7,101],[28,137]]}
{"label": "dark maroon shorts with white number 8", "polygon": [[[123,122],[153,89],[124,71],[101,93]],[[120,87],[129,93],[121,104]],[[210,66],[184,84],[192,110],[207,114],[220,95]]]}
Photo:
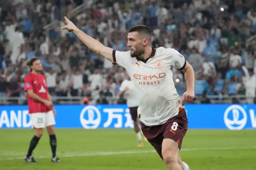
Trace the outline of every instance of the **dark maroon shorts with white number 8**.
{"label": "dark maroon shorts with white number 8", "polygon": [[163,140],[165,138],[172,139],[178,142],[178,146],[181,149],[182,140],[188,130],[188,119],[184,109],[181,109],[177,116],[170,118],[163,125],[148,127],[142,122],[140,124],[144,136],[148,139],[148,142],[154,146],[156,152],[162,159]]}

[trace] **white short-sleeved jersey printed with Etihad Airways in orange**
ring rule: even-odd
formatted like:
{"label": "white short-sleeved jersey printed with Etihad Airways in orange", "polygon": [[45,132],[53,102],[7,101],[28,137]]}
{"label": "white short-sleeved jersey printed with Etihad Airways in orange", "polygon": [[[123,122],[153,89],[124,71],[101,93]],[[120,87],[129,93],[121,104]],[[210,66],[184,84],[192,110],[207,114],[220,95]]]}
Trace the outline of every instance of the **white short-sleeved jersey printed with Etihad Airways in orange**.
{"label": "white short-sleeved jersey printed with Etihad Airways in orange", "polygon": [[131,57],[130,51],[113,50],[113,61],[130,75],[139,100],[138,115],[146,126],[162,125],[178,115],[178,107],[182,106],[174,87],[172,68],[186,66],[185,58],[178,51],[152,47],[150,58],[144,63]]}

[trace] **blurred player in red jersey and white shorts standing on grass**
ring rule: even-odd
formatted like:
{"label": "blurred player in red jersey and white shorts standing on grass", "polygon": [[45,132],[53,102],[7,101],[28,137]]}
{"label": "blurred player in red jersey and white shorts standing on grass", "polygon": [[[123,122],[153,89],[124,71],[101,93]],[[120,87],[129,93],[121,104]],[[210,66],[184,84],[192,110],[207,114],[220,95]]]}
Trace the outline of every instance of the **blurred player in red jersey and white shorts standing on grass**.
{"label": "blurred player in red jersey and white shorts standing on grass", "polygon": [[32,58],[27,65],[30,67],[31,73],[24,79],[24,91],[27,92],[28,110],[32,127],[35,129],[35,136],[30,142],[25,161],[37,162],[32,156],[32,152],[43,134],[43,128],[46,127],[50,136],[52,162],[60,162],[60,159],[56,157],[57,142],[54,131],[56,111],[48,93],[46,77],[42,75],[42,64],[39,59]]}

